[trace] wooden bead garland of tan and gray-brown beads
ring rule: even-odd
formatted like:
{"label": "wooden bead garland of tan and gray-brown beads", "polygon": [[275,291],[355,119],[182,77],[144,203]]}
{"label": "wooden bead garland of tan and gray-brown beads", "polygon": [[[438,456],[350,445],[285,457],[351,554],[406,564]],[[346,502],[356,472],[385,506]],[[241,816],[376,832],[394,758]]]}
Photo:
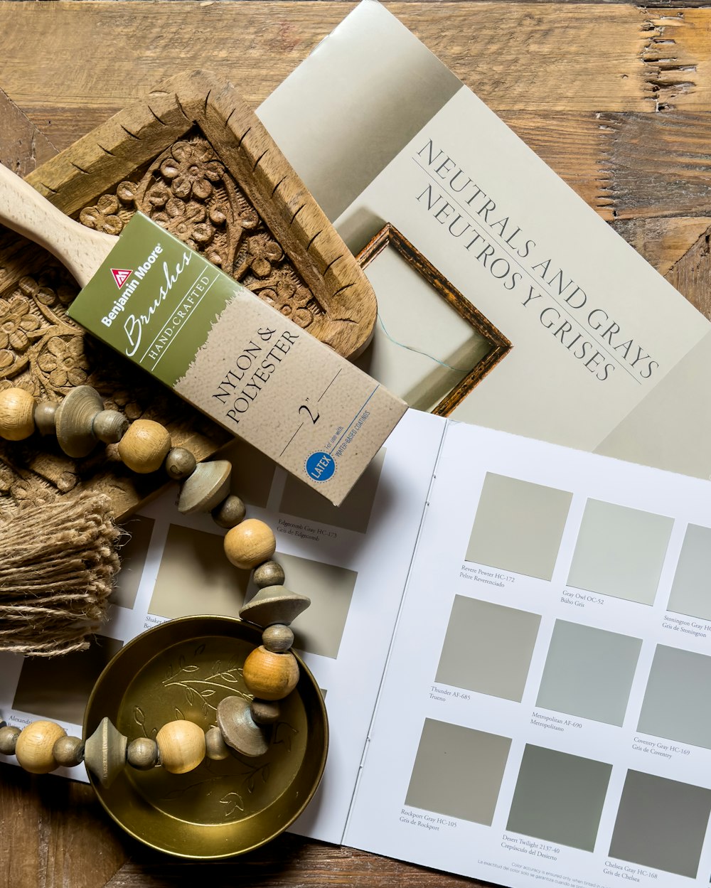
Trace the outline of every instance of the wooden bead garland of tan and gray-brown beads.
{"label": "wooden bead garland of tan and gray-brown beads", "polygon": [[236,567],[255,568],[257,592],[240,610],[242,619],[263,629],[263,644],[249,654],[242,674],[253,700],[226,697],[217,707],[217,725],[203,733],[185,719],[163,725],[155,740],[128,741],[109,719],[102,719],[83,742],[67,737],[50,721],[33,722],[20,730],[0,722],[0,753],[15,755],[25,770],[49,773],[60,765],[84,761],[107,786],[126,765],[137,770],[163,766],[170,773],[187,773],[205,758],[221,759],[235,752],[260,756],[268,749],[270,725],[279,718],[279,701],[296,687],[299,669],[290,648],[294,634],[289,623],[310,599],[290,592],[282,583],[284,571],[271,560],[276,540],[264,521],[245,519],[245,507],[229,492],[232,465],[225,460],[198,464],[186,448],[173,448],[170,433],[152,420],[133,423],[104,409],[99,393],[90,386],[73,389],[59,406],[36,403],[23,389],[0,392],[0,437],[25,440],[34,432],[57,435],[69,456],[87,456],[100,441],[116,443],[122,462],[138,473],[161,467],[169,478],[182,482],[178,510],[183,514],[211,512],[225,527],[225,555]]}

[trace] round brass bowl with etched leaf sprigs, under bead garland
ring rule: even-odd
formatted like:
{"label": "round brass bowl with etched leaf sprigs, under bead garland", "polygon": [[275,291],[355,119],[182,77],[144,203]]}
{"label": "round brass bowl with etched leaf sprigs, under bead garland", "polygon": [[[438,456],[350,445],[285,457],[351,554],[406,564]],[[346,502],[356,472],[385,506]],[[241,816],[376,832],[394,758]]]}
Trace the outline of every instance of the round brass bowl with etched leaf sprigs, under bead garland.
{"label": "round brass bowl with etched leaf sprigs, under bead garland", "polygon": [[[247,695],[241,666],[261,632],[241,620],[192,616],[164,622],[122,647],[91,692],[84,736],[107,716],[129,741],[187,718],[208,728],[217,703]],[[186,774],[126,767],[106,789],[90,779],[107,813],[158,851],[198,860],[242,854],[293,823],[316,791],[328,749],[328,719],[311,672],[281,702],[262,757],[205,759]]]}

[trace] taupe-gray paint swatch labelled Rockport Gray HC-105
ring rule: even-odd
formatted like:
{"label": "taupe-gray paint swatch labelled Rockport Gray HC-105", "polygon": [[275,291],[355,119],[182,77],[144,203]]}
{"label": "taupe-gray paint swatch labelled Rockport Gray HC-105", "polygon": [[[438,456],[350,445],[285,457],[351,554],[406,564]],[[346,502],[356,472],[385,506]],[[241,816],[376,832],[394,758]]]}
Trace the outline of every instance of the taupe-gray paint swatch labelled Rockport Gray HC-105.
{"label": "taupe-gray paint swatch labelled Rockport Gray HC-105", "polygon": [[406,805],[491,826],[511,741],[425,718]]}

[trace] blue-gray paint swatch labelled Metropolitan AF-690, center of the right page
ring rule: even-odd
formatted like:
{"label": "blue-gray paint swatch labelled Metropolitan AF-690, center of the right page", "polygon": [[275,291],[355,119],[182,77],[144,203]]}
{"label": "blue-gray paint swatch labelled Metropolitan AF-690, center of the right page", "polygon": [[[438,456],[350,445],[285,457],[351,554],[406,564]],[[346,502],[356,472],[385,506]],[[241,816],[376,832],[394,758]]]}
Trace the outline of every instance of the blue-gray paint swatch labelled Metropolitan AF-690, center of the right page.
{"label": "blue-gray paint swatch labelled Metropolitan AF-690, center of the right page", "polygon": [[536,705],[622,725],[640,638],[557,620]]}

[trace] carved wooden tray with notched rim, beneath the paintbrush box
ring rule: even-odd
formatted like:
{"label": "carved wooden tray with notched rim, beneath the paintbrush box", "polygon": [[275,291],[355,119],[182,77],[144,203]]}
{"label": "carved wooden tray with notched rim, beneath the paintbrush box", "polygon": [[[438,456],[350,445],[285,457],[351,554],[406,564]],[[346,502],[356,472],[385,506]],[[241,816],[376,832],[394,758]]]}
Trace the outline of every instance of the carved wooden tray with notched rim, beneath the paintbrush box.
{"label": "carved wooden tray with notched rim, beneath the paintbrush box", "polygon": [[[375,295],[355,259],[257,116],[206,72],[177,75],[44,163],[28,181],[84,225],[118,234],[141,210],[345,357],[367,345]],[[93,385],[130,419],[156,419],[174,444],[209,456],[229,439],[67,317],[78,289],[57,261],[0,236],[0,387],[60,400]],[[86,459],[56,442],[0,441],[3,503],[75,488],[107,492],[121,519],[161,488],[161,472],[125,470],[113,448]]]}

